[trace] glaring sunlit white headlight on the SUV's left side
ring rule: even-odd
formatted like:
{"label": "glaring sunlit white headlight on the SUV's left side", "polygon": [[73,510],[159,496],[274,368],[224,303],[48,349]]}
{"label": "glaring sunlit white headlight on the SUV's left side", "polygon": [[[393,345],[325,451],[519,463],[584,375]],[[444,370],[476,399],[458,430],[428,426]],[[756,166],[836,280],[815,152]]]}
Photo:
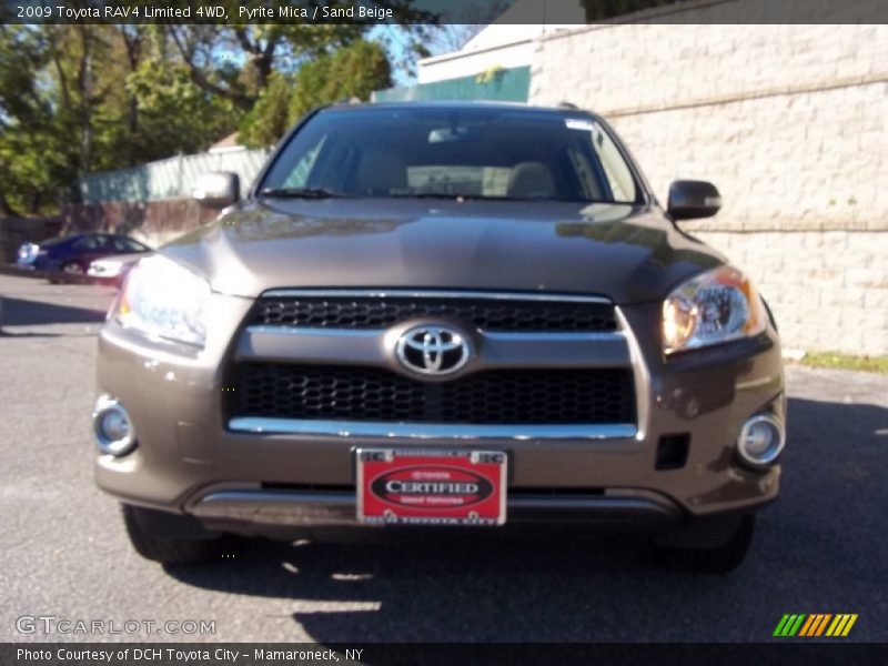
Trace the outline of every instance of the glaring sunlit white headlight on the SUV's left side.
{"label": "glaring sunlit white headlight on the SUV's left side", "polygon": [[202,347],[210,284],[160,255],[139,261],[130,271],[115,317],[149,335]]}

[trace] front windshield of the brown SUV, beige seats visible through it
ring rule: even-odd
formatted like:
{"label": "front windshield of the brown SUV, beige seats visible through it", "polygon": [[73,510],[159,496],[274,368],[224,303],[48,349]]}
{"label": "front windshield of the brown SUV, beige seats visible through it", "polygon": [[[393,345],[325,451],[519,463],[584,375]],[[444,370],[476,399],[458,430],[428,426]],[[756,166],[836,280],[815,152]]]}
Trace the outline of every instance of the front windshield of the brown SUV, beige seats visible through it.
{"label": "front windshield of the brown SUV, beige seats visible through it", "polygon": [[286,144],[268,195],[634,203],[632,170],[591,117],[513,108],[330,109]]}

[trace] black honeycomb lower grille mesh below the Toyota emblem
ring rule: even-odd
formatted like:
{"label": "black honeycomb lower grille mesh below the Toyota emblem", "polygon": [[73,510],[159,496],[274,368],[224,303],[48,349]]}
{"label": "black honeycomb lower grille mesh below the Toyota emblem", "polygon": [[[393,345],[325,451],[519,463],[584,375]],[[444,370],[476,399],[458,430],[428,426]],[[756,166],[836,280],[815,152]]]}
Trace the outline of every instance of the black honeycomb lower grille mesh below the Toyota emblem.
{"label": "black honeycomb lower grille mesh below the Toyota emblem", "polygon": [[635,423],[629,369],[501,370],[442,382],[387,370],[238,363],[230,416],[444,424]]}

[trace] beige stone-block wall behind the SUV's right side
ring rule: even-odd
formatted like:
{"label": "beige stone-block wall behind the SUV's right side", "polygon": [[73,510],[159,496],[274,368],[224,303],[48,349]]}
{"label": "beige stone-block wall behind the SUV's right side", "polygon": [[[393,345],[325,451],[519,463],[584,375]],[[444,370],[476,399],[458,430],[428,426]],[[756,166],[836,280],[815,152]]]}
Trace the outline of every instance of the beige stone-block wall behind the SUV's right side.
{"label": "beige stone-block wall behind the SUV's right side", "polygon": [[719,215],[685,228],[757,281],[786,346],[888,354],[888,27],[543,36],[529,101],[565,99],[612,121],[662,201],[718,185]]}

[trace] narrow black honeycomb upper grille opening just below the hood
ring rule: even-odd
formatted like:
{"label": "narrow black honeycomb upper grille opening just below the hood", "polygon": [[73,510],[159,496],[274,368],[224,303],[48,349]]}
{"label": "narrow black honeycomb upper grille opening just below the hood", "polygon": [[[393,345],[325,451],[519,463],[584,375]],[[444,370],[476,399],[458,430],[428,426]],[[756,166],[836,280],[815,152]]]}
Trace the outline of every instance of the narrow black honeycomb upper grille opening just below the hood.
{"label": "narrow black honeycomb upper grille opening just below the hood", "polygon": [[482,331],[609,332],[617,330],[606,302],[408,297],[396,295],[263,296],[249,324],[310,329],[385,329],[412,319],[446,317]]}

